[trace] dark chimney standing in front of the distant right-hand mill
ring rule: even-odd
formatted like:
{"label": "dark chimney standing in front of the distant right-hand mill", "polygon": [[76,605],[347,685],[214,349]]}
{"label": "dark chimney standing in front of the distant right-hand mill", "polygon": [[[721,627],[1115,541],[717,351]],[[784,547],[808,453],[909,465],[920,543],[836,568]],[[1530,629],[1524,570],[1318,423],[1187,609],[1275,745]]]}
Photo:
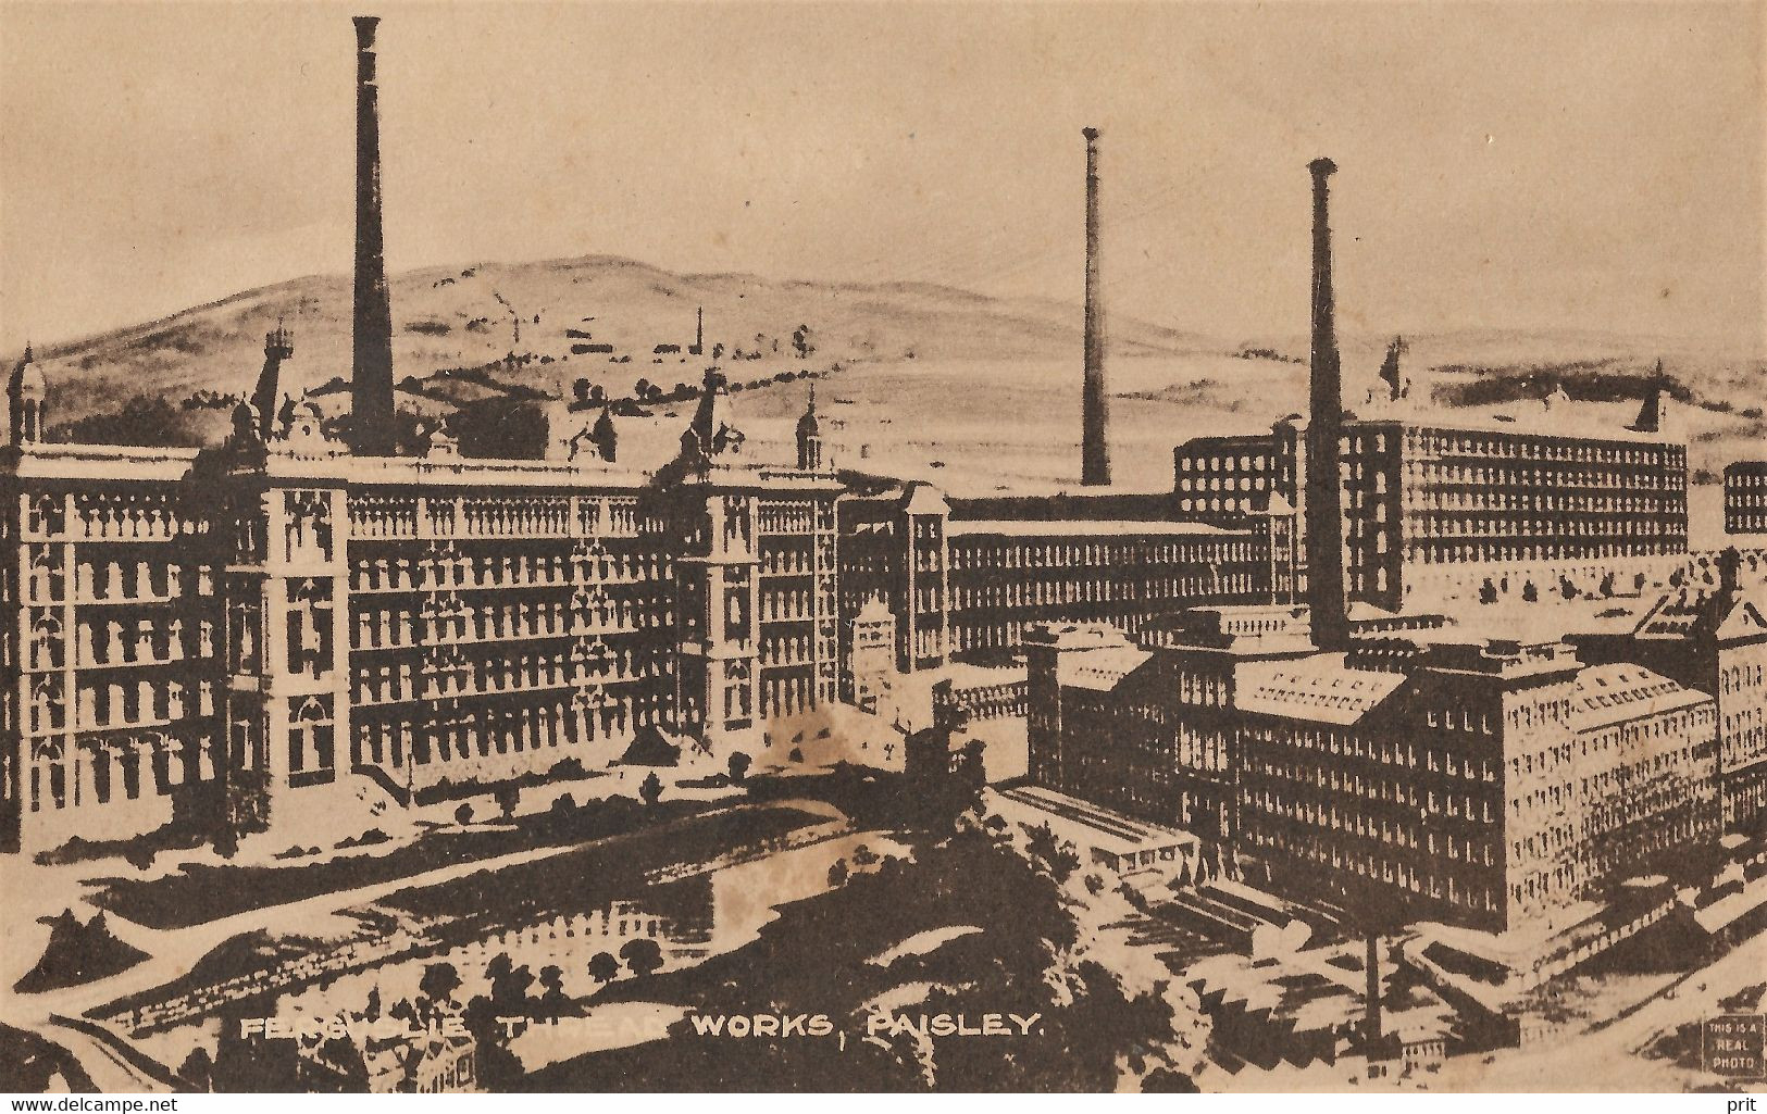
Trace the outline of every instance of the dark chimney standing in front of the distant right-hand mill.
{"label": "dark chimney standing in front of the distant right-hand mill", "polygon": [[1308,607],[1313,641],[1338,648],[1348,639],[1343,583],[1343,484],[1338,440],[1343,431],[1343,385],[1338,367],[1336,305],[1331,288],[1331,221],[1325,178],[1338,166],[1315,159],[1313,171],[1313,355],[1308,418]]}

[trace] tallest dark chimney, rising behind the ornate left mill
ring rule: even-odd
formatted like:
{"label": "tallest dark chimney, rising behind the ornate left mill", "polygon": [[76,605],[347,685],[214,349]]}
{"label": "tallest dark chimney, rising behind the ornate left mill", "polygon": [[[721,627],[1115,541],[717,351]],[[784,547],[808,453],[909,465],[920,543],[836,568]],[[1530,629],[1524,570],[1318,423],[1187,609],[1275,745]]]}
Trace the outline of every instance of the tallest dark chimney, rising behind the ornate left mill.
{"label": "tallest dark chimney, rising behind the ornate left mill", "polygon": [[350,440],[362,455],[392,455],[392,305],[380,237],[380,85],[375,28],[355,16],[355,357]]}

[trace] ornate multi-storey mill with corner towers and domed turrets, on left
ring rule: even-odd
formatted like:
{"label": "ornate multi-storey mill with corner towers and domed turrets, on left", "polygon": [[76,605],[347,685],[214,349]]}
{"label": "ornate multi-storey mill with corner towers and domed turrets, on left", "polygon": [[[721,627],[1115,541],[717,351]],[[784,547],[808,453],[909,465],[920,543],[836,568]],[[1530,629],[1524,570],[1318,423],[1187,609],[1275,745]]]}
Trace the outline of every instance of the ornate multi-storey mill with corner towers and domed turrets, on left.
{"label": "ornate multi-storey mill with corner towers and domed turrets, on left", "polygon": [[[286,344],[286,337],[281,339]],[[839,484],[742,454],[707,374],[680,455],[364,457],[297,410],[219,450],[5,448],[5,839],[251,832],[322,787],[394,796],[657,727],[724,754],[836,699]]]}

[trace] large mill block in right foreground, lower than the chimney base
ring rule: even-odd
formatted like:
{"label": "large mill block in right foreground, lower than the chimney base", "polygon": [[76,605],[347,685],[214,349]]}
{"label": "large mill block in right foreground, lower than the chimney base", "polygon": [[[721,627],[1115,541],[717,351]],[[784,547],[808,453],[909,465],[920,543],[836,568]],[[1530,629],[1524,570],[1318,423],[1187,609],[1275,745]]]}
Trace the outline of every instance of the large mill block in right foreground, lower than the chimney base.
{"label": "large mill block in right foreground, lower than the chimney base", "polygon": [[1306,609],[1046,627],[1030,775],[1398,925],[1548,925],[1718,833],[1710,696],[1562,643],[1313,646]]}

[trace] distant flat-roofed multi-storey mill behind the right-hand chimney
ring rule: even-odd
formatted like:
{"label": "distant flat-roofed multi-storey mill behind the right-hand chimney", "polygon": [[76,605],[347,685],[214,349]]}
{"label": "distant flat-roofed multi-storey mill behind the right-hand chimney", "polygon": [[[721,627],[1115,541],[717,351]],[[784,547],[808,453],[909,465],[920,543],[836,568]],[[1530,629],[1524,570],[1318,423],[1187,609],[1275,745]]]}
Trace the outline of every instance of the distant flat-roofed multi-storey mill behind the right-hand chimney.
{"label": "distant flat-roofed multi-storey mill behind the right-hand chimney", "polygon": [[[1649,429],[1567,434],[1428,413],[1343,422],[1339,484],[1350,600],[1389,611],[1467,606],[1571,584],[1659,583],[1687,553],[1687,447]],[[1193,438],[1173,452],[1179,514],[1223,526],[1299,507],[1306,422]],[[1304,579],[1304,563],[1299,572]],[[1640,579],[1642,577],[1642,579]]]}

